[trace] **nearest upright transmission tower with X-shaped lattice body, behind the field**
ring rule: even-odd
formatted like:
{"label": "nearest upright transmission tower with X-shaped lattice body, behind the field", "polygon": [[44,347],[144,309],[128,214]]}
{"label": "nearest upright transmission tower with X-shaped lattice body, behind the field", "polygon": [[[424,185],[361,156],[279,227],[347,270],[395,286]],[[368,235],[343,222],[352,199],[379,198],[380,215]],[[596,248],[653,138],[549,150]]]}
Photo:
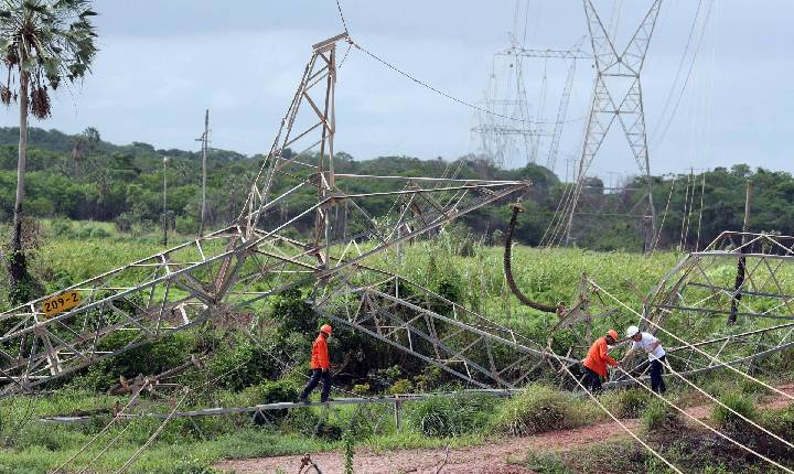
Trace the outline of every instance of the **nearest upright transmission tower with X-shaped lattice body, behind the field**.
{"label": "nearest upright transmission tower with X-shaped lattice body, behind the field", "polygon": [[621,125],[629,141],[634,160],[647,180],[647,203],[650,206],[650,228],[646,227],[645,246],[650,247],[656,234],[656,211],[653,203],[653,181],[648,161],[647,137],[645,134],[645,112],[643,109],[640,75],[645,63],[648,44],[656,25],[662,0],[654,0],[651,8],[621,52],[604,28],[591,0],[583,0],[588,20],[590,42],[596,60],[596,86],[584,136],[584,147],[573,195],[566,205],[567,227],[566,245],[571,238],[573,214],[584,186],[584,175],[603,143],[615,119]]}

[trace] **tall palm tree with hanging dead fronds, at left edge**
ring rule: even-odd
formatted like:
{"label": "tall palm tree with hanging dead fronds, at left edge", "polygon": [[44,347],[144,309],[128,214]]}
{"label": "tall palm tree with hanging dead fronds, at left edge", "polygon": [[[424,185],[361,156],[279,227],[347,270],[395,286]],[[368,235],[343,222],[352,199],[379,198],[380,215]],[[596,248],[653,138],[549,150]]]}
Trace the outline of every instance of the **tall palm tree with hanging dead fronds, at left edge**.
{"label": "tall palm tree with hanging dead fronds, at left edge", "polygon": [[[96,33],[89,0],[0,0],[0,57],[8,75],[0,100],[19,103],[20,140],[17,201],[9,255],[11,300],[30,298],[30,276],[22,248],[22,202],[28,157],[28,112],[50,117],[50,91],[62,82],[76,83],[88,72],[96,54]],[[13,90],[12,90],[13,88]]]}

